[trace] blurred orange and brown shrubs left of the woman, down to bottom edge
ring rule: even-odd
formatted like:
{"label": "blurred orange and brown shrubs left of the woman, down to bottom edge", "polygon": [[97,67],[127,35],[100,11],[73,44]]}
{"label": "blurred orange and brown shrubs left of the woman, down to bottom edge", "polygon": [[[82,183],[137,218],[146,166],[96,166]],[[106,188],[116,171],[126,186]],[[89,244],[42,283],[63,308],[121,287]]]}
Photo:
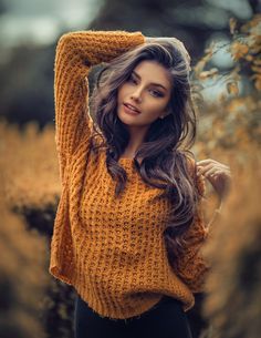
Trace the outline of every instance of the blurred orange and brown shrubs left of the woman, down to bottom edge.
{"label": "blurred orange and brown shrubs left of the woman, down to bottom edge", "polygon": [[[0,248],[4,253],[4,259],[0,260],[0,298],[4,301],[0,337],[71,338],[74,295],[48,273],[50,240],[61,193],[53,126],[45,125],[40,133],[38,124],[31,122],[21,132],[18,125],[2,121],[0,134],[0,196],[4,196],[0,201],[3,216]],[[43,281],[45,288],[41,290]],[[20,318],[20,313],[9,314],[8,308],[15,308],[23,295],[27,298],[22,298],[19,311],[24,315]],[[41,301],[40,305],[36,301]],[[27,308],[33,311],[30,321]],[[46,336],[40,334],[39,320]]]}

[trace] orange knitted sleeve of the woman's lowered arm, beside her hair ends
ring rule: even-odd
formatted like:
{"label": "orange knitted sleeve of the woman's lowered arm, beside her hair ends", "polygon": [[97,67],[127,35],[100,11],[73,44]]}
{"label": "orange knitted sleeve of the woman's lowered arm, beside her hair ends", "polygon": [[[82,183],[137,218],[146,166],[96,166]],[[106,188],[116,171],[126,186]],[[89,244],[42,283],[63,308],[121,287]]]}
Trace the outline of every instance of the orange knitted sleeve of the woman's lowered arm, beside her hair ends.
{"label": "orange knitted sleeve of the woman's lowered arm, beside her hair ends", "polygon": [[176,274],[194,294],[203,291],[206,274],[210,269],[210,265],[201,254],[201,247],[208,238],[208,229],[202,209],[202,198],[206,193],[206,184],[202,175],[196,178],[196,187],[201,197],[194,223],[184,237],[186,239],[184,252],[174,263]]}

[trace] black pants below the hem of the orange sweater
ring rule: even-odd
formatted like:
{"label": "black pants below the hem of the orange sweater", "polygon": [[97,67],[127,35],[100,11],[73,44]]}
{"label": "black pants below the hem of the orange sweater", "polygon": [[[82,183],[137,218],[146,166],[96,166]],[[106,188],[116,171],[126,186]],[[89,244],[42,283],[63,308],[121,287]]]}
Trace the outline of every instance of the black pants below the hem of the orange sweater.
{"label": "black pants below the hem of the orange sweater", "polygon": [[76,294],[74,331],[75,338],[192,338],[181,303],[167,296],[140,316],[112,320]]}

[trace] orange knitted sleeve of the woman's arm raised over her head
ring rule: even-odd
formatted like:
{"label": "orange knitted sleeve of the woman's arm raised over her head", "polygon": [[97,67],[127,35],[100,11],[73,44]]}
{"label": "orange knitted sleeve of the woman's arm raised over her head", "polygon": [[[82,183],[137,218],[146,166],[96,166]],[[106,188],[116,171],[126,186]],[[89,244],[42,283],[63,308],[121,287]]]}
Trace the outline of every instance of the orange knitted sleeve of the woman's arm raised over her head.
{"label": "orange knitted sleeve of the woman's arm raised over her head", "polygon": [[145,42],[140,32],[75,31],[63,34],[54,61],[55,144],[60,178],[83,135],[91,135],[87,74],[92,65]]}

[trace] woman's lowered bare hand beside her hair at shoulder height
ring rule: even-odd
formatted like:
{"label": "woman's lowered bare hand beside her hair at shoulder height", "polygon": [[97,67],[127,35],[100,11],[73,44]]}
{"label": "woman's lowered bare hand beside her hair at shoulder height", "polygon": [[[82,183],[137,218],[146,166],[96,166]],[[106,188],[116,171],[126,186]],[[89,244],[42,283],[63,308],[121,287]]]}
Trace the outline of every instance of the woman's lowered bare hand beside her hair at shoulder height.
{"label": "woman's lowered bare hand beside her hair at shoulder height", "polygon": [[222,201],[231,184],[230,167],[218,161],[207,158],[197,162],[197,175],[200,174],[208,178],[220,201]]}

